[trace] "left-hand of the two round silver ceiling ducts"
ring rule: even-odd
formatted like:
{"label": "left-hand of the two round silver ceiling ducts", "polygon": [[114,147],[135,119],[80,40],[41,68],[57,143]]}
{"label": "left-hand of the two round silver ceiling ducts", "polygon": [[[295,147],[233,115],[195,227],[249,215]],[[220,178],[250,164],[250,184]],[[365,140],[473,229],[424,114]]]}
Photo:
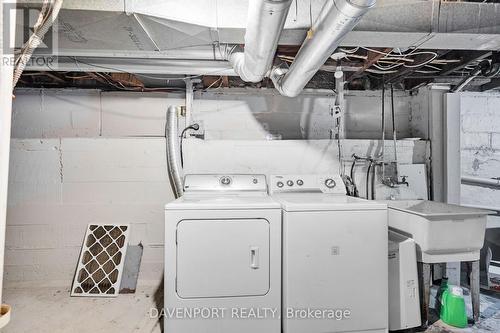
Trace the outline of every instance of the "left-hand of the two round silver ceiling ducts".
{"label": "left-hand of the two round silver ceiling ducts", "polygon": [[292,0],[250,0],[245,52],[229,56],[243,81],[260,82],[268,73],[291,3]]}

